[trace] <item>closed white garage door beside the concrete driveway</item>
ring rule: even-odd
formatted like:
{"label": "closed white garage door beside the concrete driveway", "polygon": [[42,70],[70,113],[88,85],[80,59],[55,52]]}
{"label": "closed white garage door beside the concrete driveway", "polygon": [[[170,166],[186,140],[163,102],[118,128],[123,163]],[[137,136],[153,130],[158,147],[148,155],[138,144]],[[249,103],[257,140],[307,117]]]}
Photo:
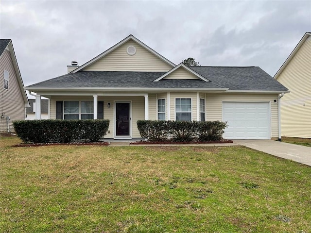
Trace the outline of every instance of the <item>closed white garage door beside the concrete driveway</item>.
{"label": "closed white garage door beside the concrete driveway", "polygon": [[226,139],[270,139],[269,102],[223,102]]}

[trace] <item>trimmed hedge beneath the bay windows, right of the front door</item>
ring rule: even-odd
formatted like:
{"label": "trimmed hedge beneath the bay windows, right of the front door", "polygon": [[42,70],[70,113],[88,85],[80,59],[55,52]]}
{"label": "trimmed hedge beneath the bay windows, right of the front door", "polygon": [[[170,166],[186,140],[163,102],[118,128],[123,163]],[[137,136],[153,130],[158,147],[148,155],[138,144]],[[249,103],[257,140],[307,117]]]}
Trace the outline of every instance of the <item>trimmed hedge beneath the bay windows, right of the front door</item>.
{"label": "trimmed hedge beneath the bay windows, right of the front door", "polygon": [[206,142],[221,140],[227,122],[138,120],[137,126],[140,136],[149,141]]}

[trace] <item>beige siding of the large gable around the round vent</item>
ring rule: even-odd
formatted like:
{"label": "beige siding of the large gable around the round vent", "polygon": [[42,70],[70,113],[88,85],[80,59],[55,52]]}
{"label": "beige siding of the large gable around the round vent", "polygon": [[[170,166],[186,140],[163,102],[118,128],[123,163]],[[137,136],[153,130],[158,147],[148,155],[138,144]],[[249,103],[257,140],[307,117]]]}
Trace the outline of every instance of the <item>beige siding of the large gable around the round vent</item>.
{"label": "beige siding of the large gable around the round vent", "polygon": [[[135,55],[127,54],[127,47],[136,48]],[[83,70],[88,71],[169,71],[173,67],[138,45],[129,40],[116,50],[113,50],[103,58]]]}

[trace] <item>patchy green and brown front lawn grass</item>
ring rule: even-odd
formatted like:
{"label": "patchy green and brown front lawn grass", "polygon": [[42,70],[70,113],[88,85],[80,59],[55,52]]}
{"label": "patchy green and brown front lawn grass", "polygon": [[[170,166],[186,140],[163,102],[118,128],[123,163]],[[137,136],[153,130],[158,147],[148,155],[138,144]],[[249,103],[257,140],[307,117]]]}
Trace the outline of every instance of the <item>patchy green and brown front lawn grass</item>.
{"label": "patchy green and brown front lawn grass", "polygon": [[311,167],[256,150],[0,141],[1,233],[311,232]]}

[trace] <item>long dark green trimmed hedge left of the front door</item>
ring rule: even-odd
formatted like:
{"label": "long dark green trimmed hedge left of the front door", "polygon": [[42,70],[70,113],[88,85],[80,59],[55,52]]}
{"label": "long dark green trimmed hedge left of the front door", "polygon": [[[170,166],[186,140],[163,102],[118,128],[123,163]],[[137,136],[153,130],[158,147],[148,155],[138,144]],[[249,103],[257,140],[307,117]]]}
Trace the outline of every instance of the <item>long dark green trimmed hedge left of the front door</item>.
{"label": "long dark green trimmed hedge left of the front door", "polygon": [[18,120],[13,125],[17,136],[27,143],[98,142],[106,135],[109,120]]}

